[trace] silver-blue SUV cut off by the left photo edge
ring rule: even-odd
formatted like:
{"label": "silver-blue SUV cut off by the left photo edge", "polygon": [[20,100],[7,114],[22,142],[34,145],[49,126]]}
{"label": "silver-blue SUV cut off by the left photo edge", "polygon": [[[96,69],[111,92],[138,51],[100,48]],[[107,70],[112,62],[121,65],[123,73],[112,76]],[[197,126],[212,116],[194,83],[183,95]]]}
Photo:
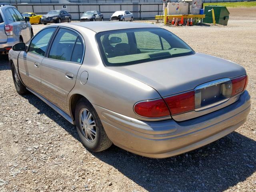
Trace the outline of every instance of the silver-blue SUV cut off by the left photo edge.
{"label": "silver-blue SUV cut off by the left photo edge", "polygon": [[10,5],[0,7],[0,54],[7,54],[18,42],[27,42],[33,37],[28,17]]}

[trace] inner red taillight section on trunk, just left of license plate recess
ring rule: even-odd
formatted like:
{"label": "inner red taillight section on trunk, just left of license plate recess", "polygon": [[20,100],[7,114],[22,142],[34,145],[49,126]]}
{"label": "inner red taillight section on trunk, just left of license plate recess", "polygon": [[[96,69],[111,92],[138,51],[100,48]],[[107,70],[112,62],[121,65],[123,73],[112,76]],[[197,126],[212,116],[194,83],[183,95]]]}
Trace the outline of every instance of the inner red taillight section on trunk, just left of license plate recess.
{"label": "inner red taillight section on trunk, just left of license plate recess", "polygon": [[195,109],[195,92],[190,91],[164,98],[171,114],[179,114]]}

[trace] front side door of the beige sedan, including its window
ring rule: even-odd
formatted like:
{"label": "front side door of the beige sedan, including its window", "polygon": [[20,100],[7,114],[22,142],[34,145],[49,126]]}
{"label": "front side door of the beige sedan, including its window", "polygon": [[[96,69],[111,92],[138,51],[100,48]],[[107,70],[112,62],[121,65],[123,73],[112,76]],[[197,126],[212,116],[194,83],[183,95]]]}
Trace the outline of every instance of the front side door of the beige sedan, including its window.
{"label": "front side door of the beige sedan, including its window", "polygon": [[22,51],[18,58],[20,78],[31,90],[41,94],[41,62],[56,27],[46,28],[31,40],[28,51]]}

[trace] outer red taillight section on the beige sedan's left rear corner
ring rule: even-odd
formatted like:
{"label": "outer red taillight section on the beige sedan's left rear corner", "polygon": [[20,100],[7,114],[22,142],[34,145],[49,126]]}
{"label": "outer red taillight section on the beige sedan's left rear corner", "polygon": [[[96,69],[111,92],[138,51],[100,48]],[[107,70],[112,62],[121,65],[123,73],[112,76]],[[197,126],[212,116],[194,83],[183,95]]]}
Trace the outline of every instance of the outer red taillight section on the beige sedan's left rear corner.
{"label": "outer red taillight section on the beige sedan's left rear corner", "polygon": [[170,115],[164,100],[147,100],[134,105],[134,112],[146,118],[158,118]]}

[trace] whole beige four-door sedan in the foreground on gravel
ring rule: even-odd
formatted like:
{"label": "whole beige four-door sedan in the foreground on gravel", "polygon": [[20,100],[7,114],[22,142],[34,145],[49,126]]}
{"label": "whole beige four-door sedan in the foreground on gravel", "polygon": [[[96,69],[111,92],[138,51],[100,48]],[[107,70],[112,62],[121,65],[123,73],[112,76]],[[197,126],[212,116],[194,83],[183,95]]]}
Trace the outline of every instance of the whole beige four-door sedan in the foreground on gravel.
{"label": "whole beige four-door sedan in the foreground on gravel", "polygon": [[53,24],[9,52],[14,85],[75,124],[93,152],[112,143],[166,158],[233,132],[250,111],[245,69],[194,52],[152,24]]}

